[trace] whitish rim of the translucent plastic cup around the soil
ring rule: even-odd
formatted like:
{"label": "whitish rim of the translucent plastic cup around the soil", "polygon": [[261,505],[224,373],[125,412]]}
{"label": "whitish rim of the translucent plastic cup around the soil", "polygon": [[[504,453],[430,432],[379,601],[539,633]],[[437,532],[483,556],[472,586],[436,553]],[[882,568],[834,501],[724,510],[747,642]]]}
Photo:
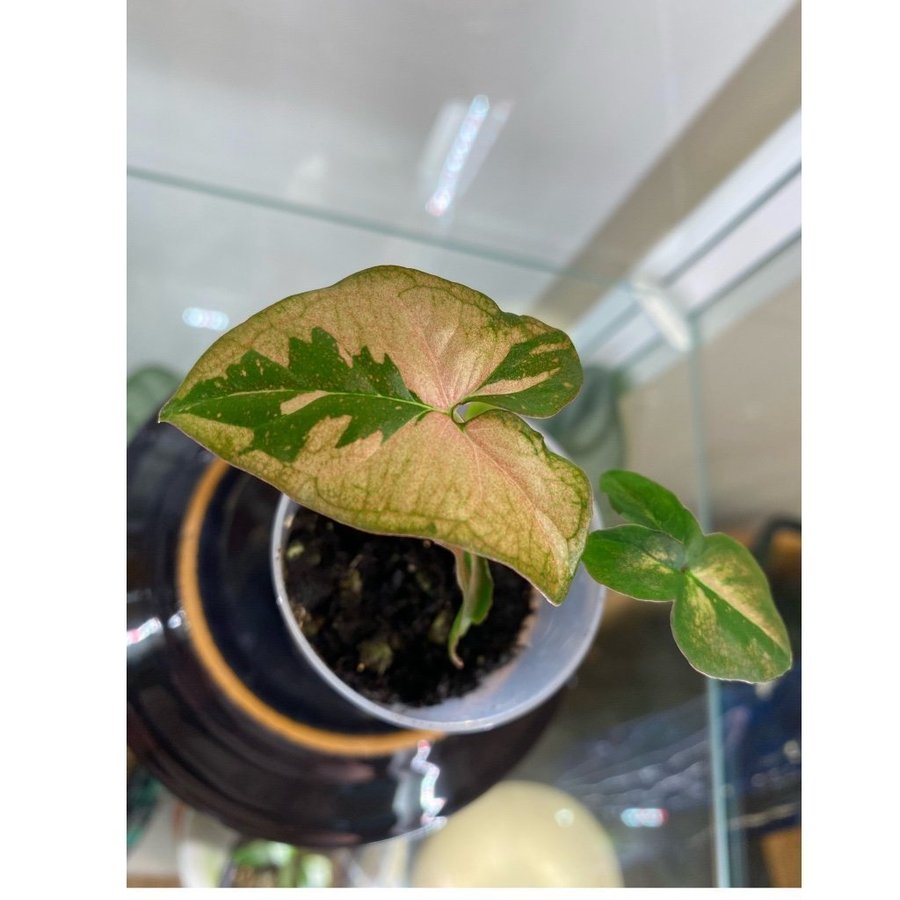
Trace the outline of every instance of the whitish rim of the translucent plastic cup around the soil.
{"label": "whitish rim of the translucent plastic cup around the soil", "polygon": [[[544,435],[544,439],[553,452],[563,455],[559,447],[549,440],[546,435]],[[571,604],[575,599],[573,598],[573,594],[577,593],[579,598],[582,595],[588,595],[588,599],[590,599],[590,595],[594,595],[596,599],[594,600],[593,609],[582,616],[582,620],[578,624],[579,635],[574,642],[570,640],[570,646],[567,647],[566,658],[561,660],[559,666],[554,667],[553,674],[549,678],[542,680],[539,686],[534,691],[529,692],[525,699],[511,704],[501,713],[479,716],[458,714],[455,716],[442,715],[442,708],[458,705],[454,703],[454,701],[462,699],[458,697],[449,698],[441,703],[422,707],[414,707],[402,703],[388,705],[371,700],[350,687],[322,660],[306,635],[303,634],[303,630],[291,611],[287,595],[287,586],[284,579],[282,556],[284,552],[284,542],[289,532],[293,513],[299,509],[300,506],[301,504],[292,500],[286,494],[282,494],[272,523],[270,562],[278,608],[287,625],[288,632],[294,641],[294,645],[302,658],[316,671],[326,684],[345,700],[383,722],[387,722],[398,728],[437,730],[447,733],[486,731],[495,728],[506,722],[512,721],[513,719],[520,718],[540,706],[546,700],[549,700],[550,697],[560,690],[572,676],[593,643],[594,636],[600,624],[600,617],[603,612],[606,589],[593,581],[585,571],[584,566],[579,564],[575,578],[572,580],[572,587],[566,595],[566,599],[558,606],[554,606],[543,594],[534,588],[534,593],[537,595],[538,602],[535,611],[525,620],[522,634],[526,636],[534,631],[535,624],[540,619],[548,615],[560,616],[562,610],[566,608],[566,604]],[[592,503],[592,507],[593,514],[591,516],[590,530],[593,531],[601,527],[601,520],[596,501]],[[533,652],[532,645],[527,641],[523,642],[511,660],[489,673],[481,684],[474,691],[470,692],[470,694],[477,694],[484,690],[486,685],[490,686],[492,683],[495,683],[497,689],[502,691],[503,681],[505,681],[509,675],[521,665],[522,658],[529,652]],[[469,696],[469,694],[463,695],[463,697],[466,696]]]}

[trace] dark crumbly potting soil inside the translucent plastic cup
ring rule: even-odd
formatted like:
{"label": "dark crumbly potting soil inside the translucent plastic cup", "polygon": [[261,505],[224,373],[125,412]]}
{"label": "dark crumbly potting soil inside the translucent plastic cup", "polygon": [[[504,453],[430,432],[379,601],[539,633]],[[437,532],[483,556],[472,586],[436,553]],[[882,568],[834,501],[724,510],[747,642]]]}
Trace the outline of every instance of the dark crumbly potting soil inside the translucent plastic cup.
{"label": "dark crumbly potting soil inside the translucent plastic cup", "polygon": [[511,569],[490,566],[494,604],[460,641],[457,669],[447,655],[461,599],[449,550],[301,508],[284,553],[291,609],[316,653],[366,697],[413,706],[466,693],[515,654],[536,595]]}

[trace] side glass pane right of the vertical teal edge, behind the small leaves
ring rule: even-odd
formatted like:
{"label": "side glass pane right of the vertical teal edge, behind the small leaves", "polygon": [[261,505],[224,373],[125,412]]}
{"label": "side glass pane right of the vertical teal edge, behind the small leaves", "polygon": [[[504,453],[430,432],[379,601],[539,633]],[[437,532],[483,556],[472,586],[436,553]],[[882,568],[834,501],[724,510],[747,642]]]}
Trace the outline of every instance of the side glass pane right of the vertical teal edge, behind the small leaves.
{"label": "side glass pane right of the vertical teal edge, behind the small leaves", "polygon": [[800,884],[800,282],[773,292],[702,353],[712,525],[744,541],[769,576],[794,665],[764,685],[723,683],[732,883]]}

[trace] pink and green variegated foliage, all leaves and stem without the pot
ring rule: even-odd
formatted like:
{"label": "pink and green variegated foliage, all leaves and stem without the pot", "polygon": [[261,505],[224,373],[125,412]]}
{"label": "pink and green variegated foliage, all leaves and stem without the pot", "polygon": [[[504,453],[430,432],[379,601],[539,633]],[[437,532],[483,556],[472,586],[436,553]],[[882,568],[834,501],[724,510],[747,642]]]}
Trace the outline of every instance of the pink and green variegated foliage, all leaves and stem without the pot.
{"label": "pink and green variegated foliage, all leaves and stem without the pot", "polygon": [[[790,665],[765,578],[630,473],[604,489],[630,525],[588,537],[591,489],[521,416],[581,387],[569,338],[483,294],[381,266],[288,297],[221,337],[160,413],[298,503],[356,528],[431,539],[456,559],[448,651],[486,617],[487,559],[562,602],[585,552],[594,577],[675,598],[679,646],[701,671],[764,680]],[[665,595],[665,596],[663,596]]]}

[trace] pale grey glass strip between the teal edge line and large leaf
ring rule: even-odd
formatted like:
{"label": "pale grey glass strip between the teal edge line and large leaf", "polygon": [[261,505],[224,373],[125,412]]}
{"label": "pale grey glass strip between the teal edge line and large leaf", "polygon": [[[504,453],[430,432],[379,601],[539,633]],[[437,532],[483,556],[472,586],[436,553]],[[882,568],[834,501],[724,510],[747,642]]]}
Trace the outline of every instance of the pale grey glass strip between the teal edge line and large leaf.
{"label": "pale grey glass strip between the teal edge line and large leaf", "polygon": [[[390,261],[532,310],[556,274],[334,218],[129,178],[128,364],[184,373],[216,336],[290,294]],[[598,288],[598,292],[602,288]]]}

